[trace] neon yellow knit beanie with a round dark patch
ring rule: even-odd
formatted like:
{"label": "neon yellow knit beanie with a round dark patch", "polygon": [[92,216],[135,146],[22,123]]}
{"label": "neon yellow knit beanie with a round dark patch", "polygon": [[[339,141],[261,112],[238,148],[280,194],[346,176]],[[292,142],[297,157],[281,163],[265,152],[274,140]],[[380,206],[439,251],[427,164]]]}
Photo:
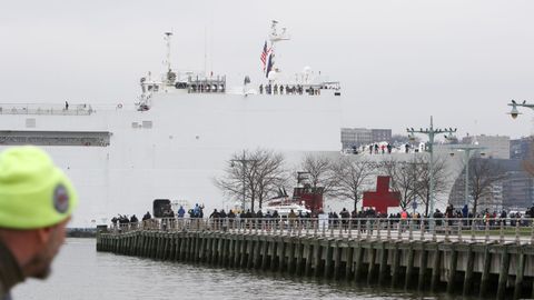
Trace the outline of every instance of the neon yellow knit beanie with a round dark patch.
{"label": "neon yellow knit beanie with a round dark patch", "polygon": [[0,153],[0,228],[53,226],[77,204],[72,183],[44,151],[23,146]]}

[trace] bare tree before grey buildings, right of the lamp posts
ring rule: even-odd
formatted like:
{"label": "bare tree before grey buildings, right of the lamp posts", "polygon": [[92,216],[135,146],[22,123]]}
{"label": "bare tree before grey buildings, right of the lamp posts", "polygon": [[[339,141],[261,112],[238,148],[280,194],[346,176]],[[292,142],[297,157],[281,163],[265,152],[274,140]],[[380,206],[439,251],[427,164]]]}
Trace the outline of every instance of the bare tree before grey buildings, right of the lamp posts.
{"label": "bare tree before grey buildings, right of the lamp posts", "polygon": [[492,194],[493,186],[506,178],[504,169],[493,159],[473,158],[469,160],[469,186],[473,197],[473,214],[476,216],[478,201]]}

